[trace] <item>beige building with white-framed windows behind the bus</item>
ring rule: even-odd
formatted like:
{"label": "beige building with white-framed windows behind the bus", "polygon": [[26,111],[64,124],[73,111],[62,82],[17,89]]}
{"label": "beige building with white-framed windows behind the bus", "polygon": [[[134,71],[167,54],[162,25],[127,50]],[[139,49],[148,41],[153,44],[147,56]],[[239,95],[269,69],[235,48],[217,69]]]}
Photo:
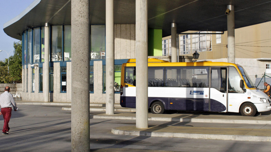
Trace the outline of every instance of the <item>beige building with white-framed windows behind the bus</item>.
{"label": "beige building with white-framed windows behind the bus", "polygon": [[[271,22],[235,29],[235,63],[243,66],[255,82],[257,78],[271,74]],[[197,51],[198,61],[227,62],[227,31],[187,31],[179,34],[179,55],[193,56]],[[213,34],[216,33],[216,34]],[[163,55],[171,55],[171,36],[162,40]]]}

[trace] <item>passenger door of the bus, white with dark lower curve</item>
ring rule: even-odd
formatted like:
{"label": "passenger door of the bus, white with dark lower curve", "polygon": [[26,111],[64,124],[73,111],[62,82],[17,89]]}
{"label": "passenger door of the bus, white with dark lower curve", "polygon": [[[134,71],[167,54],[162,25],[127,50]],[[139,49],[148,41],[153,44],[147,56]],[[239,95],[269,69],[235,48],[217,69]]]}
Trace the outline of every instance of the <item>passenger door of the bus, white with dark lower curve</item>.
{"label": "passenger door of the bus, white with dark lower curve", "polygon": [[209,111],[226,112],[227,108],[227,68],[210,68]]}

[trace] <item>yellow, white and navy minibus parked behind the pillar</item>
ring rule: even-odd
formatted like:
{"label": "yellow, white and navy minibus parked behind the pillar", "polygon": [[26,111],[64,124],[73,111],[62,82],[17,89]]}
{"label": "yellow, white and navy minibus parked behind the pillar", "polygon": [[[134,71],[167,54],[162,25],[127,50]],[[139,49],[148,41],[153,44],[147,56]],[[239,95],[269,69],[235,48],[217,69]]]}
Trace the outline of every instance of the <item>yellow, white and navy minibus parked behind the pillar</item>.
{"label": "yellow, white and navy minibus parked behind the pillar", "polygon": [[[136,108],[135,59],[123,63],[120,88],[120,105]],[[254,116],[269,111],[271,102],[240,65],[148,59],[148,107],[154,114],[192,110]]]}

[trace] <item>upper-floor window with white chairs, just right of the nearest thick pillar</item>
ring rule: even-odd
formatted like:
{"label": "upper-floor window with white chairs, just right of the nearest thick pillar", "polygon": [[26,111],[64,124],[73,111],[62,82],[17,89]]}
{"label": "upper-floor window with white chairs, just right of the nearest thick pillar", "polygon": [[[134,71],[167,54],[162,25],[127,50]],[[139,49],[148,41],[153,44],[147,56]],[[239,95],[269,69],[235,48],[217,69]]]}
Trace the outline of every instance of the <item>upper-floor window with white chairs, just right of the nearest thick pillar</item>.
{"label": "upper-floor window with white chairs, just right of the nearest thick pillar", "polygon": [[91,25],[90,30],[90,59],[105,59],[105,25]]}

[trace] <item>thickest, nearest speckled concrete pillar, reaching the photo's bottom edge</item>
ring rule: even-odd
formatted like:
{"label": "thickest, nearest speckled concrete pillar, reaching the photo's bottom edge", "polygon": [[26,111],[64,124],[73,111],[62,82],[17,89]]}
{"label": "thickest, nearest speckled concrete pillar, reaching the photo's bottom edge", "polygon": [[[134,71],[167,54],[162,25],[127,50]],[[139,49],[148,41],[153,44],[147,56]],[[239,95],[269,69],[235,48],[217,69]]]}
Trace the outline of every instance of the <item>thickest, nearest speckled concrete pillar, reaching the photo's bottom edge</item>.
{"label": "thickest, nearest speckled concrete pillar, reaching the photo's bottom edge", "polygon": [[89,0],[71,0],[71,151],[89,151]]}

